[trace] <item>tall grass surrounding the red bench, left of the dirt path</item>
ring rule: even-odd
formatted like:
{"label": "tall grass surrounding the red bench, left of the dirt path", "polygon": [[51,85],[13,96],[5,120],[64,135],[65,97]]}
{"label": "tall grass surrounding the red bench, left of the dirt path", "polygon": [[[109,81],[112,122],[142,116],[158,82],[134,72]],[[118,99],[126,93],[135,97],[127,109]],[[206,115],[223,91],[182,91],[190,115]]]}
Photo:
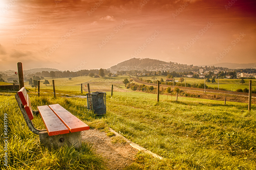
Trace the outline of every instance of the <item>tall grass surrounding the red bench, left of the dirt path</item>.
{"label": "tall grass surrounding the red bench, left of the dirt path", "polygon": [[[81,149],[60,147],[48,150],[40,146],[38,135],[32,133],[21,114],[14,98],[15,93],[0,94],[0,124],[1,134],[4,133],[4,114],[8,117],[8,168],[9,169],[106,169],[103,157],[96,154],[92,145],[82,143]],[[60,104],[83,121],[93,120],[95,115],[88,112],[82,99],[47,98],[29,94],[33,110],[36,106]],[[34,115],[36,128],[44,129],[39,115]],[[1,169],[6,169],[3,163],[4,138],[1,136],[0,159]]]}

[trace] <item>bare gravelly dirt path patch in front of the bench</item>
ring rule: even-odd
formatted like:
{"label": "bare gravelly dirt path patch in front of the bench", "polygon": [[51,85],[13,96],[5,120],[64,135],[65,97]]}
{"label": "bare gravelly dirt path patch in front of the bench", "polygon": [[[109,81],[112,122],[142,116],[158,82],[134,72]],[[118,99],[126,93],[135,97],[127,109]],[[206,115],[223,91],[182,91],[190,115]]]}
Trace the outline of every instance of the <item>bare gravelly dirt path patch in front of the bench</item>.
{"label": "bare gravelly dirt path patch in front of the bench", "polygon": [[130,165],[138,152],[128,143],[112,143],[105,132],[97,129],[82,131],[82,141],[92,143],[96,152],[106,158],[107,166],[111,170],[121,170]]}

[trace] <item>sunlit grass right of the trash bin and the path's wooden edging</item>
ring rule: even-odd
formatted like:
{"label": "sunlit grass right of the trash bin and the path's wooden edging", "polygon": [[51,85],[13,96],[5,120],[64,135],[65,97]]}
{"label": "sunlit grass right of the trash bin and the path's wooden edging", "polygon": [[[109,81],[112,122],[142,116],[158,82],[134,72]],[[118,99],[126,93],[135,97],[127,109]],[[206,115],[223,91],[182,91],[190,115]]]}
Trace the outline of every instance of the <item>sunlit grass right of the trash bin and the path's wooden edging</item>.
{"label": "sunlit grass right of the trash bin and the path's wooden edging", "polygon": [[140,153],[126,169],[255,169],[255,105],[155,100],[108,98],[106,123],[165,158]]}

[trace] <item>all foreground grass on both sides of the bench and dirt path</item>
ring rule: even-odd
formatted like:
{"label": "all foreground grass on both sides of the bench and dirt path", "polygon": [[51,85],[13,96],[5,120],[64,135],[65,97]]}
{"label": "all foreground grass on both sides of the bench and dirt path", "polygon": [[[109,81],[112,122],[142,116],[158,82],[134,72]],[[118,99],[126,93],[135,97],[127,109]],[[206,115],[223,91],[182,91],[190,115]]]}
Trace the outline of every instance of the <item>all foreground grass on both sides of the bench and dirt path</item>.
{"label": "all foreground grass on both sides of the bench and dirt path", "polygon": [[[58,92],[72,94],[74,91]],[[14,94],[0,93],[0,124],[3,126],[6,113],[8,160],[12,169],[106,168],[106,160],[96,154],[88,143],[83,143],[80,150],[64,147],[49,151],[41,147],[38,136],[25,124]],[[96,116],[84,107],[85,99],[67,99],[60,94],[53,98],[49,93],[42,93],[40,97],[33,92],[29,95],[34,110],[38,105],[59,103],[91,128],[108,132],[107,127],[111,127],[127,139],[164,157],[158,160],[139,152],[134,163],[125,170],[255,169],[255,105],[248,112],[244,103],[227,102],[223,105],[221,101],[182,97],[174,101],[166,95],[160,95],[157,103],[155,94],[114,92],[111,97],[107,92],[107,114]],[[36,128],[45,128],[40,116],[35,116],[34,124]],[[3,150],[3,145],[0,149]],[[1,160],[3,155],[1,152]],[[1,168],[4,168],[3,164]]]}

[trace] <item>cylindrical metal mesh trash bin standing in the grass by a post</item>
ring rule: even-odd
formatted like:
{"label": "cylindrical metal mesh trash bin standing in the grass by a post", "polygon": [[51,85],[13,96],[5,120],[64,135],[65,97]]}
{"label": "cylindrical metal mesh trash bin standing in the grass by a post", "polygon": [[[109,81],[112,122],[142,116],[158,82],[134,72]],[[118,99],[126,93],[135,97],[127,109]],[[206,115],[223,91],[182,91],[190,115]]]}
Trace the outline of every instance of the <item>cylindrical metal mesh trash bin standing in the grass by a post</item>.
{"label": "cylindrical metal mesh trash bin standing in the grass by a post", "polygon": [[106,92],[91,93],[91,109],[97,115],[106,114]]}

